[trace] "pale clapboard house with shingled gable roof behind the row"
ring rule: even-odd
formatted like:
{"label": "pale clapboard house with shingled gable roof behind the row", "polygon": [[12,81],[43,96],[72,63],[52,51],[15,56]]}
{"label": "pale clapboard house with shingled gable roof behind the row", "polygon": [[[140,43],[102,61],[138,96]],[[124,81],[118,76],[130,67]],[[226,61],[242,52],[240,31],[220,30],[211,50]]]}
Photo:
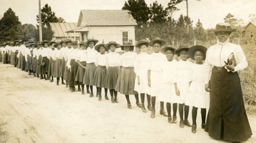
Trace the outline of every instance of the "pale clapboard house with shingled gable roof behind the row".
{"label": "pale clapboard house with shingled gable roof behind the row", "polygon": [[67,33],[79,33],[80,41],[89,38],[99,40],[132,41],[135,45],[135,19],[128,10],[81,10],[77,27],[68,30]]}

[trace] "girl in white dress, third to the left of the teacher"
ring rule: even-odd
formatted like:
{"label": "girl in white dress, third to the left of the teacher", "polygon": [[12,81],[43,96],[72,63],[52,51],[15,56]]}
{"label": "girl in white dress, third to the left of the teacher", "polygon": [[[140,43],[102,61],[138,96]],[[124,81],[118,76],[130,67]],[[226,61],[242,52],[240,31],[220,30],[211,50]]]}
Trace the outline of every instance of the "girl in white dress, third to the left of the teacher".
{"label": "girl in white dress, third to the left of the teacher", "polygon": [[[173,101],[173,97],[176,96],[174,83],[177,82],[177,61],[173,59],[175,48],[171,45],[166,45],[165,47],[160,49],[160,52],[165,54],[166,60],[161,64],[162,69],[162,84],[161,84],[161,101],[166,102],[166,109],[168,114],[168,122],[176,123],[176,112],[177,112],[177,103]],[[171,103],[175,103],[173,105],[173,119],[171,116]]]}

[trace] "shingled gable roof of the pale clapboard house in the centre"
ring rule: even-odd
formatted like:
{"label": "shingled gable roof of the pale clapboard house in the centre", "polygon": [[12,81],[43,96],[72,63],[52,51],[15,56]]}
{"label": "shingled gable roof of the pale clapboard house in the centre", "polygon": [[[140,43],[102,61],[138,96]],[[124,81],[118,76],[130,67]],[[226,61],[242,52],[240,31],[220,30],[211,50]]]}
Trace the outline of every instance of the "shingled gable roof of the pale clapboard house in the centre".
{"label": "shingled gable roof of the pale clapboard house in the centre", "polygon": [[[129,10],[81,10],[88,26],[137,25]],[[82,26],[82,25],[81,25]]]}

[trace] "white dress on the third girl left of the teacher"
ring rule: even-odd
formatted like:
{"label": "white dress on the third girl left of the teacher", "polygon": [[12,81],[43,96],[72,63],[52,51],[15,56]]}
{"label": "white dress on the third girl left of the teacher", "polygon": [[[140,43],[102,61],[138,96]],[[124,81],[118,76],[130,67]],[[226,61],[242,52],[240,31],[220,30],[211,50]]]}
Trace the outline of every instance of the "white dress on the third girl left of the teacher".
{"label": "white dress on the third girl left of the teacher", "polygon": [[158,96],[158,100],[168,103],[176,103],[173,98],[176,97],[175,86],[177,80],[177,67],[178,62],[173,59],[172,61],[164,61],[162,67],[162,82],[161,82],[161,94]]}

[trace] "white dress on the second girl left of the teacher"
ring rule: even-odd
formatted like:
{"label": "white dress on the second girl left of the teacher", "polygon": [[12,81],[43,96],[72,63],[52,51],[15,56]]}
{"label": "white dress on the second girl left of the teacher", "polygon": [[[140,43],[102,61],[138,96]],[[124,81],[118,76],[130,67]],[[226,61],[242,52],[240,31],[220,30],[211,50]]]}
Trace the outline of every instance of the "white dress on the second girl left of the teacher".
{"label": "white dress on the second girl left of the teacher", "polygon": [[180,96],[176,95],[173,98],[173,103],[185,103],[185,96],[187,96],[189,82],[192,81],[192,65],[193,63],[188,60],[180,60],[178,62],[177,87],[180,90]]}

